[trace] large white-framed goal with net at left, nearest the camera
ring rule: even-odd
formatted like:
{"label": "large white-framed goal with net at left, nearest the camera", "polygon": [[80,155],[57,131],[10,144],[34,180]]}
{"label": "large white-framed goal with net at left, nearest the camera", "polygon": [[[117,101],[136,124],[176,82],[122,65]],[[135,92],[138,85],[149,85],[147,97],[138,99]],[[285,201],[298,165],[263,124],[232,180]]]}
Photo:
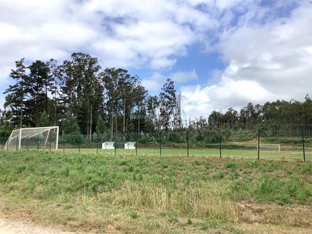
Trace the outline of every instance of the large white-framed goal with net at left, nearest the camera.
{"label": "large white-framed goal with net at left, nearest the camera", "polygon": [[21,128],[13,130],[5,149],[56,149],[58,126],[42,128]]}

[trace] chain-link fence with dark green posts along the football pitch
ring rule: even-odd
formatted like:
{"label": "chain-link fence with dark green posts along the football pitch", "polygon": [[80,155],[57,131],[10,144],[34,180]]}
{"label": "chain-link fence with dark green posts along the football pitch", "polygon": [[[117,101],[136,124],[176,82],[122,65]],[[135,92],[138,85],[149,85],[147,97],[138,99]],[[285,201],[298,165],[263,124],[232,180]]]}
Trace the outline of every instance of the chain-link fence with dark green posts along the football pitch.
{"label": "chain-link fence with dark green posts along the football pitch", "polygon": [[[215,158],[311,160],[312,138],[304,129],[59,135],[58,151],[98,154],[176,155]],[[0,138],[5,149],[8,137]],[[39,148],[38,148],[39,150]],[[54,149],[45,149],[54,150]]]}

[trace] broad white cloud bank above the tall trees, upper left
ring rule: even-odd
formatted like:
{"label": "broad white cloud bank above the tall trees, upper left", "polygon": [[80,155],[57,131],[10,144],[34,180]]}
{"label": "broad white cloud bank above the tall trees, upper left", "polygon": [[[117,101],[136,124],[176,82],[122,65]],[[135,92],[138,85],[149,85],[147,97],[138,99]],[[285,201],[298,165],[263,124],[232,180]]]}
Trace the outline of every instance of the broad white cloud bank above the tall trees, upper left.
{"label": "broad white cloud bank above the tall trees, upper left", "polygon": [[[86,51],[103,66],[171,67],[216,21],[188,2],[1,1],[0,67]],[[1,81],[0,81],[1,82]]]}

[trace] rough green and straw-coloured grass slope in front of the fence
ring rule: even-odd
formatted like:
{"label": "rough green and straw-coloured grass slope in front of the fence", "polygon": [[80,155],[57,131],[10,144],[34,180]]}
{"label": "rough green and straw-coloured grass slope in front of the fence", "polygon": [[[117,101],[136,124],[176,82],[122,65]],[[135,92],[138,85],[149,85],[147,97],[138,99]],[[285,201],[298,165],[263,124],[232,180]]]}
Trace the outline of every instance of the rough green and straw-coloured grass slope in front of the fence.
{"label": "rough green and straw-coloured grass slope in front of the fence", "polygon": [[37,222],[86,232],[110,224],[120,233],[309,233],[312,227],[310,162],[83,151],[0,155],[1,212]]}

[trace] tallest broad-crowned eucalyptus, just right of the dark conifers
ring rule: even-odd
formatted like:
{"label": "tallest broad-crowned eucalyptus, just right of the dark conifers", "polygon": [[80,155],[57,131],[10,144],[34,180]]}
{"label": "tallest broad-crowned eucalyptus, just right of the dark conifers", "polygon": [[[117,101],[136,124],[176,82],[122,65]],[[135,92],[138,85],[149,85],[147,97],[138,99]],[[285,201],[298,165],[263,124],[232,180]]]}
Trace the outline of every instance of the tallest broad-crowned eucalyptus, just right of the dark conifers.
{"label": "tallest broad-crowned eucalyptus, just right of the dark conifers", "polygon": [[71,58],[57,71],[61,104],[76,116],[80,129],[91,137],[95,130],[93,116],[98,116],[104,99],[104,73],[97,58],[84,53],[73,53]]}

